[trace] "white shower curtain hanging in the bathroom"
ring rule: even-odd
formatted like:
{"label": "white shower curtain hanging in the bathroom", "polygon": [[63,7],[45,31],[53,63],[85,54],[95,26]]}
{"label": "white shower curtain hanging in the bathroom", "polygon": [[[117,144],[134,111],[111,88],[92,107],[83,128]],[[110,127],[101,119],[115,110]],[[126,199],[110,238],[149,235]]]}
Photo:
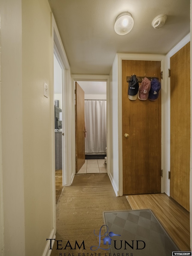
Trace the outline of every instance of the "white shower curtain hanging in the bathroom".
{"label": "white shower curtain hanging in the bathroom", "polygon": [[85,100],[85,154],[105,152],[107,147],[107,101]]}

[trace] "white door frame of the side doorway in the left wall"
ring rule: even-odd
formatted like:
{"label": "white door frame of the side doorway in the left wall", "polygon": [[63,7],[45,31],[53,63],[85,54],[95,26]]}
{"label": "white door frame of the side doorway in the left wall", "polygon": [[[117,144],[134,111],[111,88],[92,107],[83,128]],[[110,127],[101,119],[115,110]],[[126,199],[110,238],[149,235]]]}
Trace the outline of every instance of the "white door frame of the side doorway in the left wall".
{"label": "white door frame of the side doorway in the left wall", "polygon": [[[58,57],[60,64],[62,65],[63,74],[62,74],[62,108],[64,109],[63,112],[63,120],[64,120],[64,133],[68,134],[68,136],[65,136],[64,139],[64,172],[63,172],[63,185],[64,186],[70,186],[71,181],[71,151],[70,151],[70,145],[71,145],[71,111],[70,108],[67,108],[67,106],[71,105],[71,91],[70,91],[70,66],[67,60],[67,56],[61,41],[61,37],[58,32],[58,28],[54,19],[53,14],[51,13],[52,18],[52,74],[54,74],[54,66],[53,66],[53,54]],[[52,77],[53,81],[53,77]],[[51,115],[52,115],[52,134],[51,134],[51,140],[52,140],[52,200],[53,200],[53,223],[54,227],[53,229],[56,230],[56,203],[55,203],[55,111],[54,111],[54,87],[52,86],[52,92],[50,92],[50,100],[52,100],[52,108],[51,108]],[[69,170],[66,172],[66,170]],[[56,231],[55,231],[56,232]]]}

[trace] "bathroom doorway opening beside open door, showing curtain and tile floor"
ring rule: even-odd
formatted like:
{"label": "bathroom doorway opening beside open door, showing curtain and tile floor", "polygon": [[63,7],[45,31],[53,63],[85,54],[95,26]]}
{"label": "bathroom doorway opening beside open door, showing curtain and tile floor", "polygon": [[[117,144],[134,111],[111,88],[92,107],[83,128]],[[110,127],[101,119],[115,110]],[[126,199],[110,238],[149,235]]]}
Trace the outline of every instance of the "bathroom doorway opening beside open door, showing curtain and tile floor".
{"label": "bathroom doorway opening beside open door, showing curtain and tile floor", "polygon": [[77,82],[84,91],[85,163],[76,173],[107,173],[107,82]]}

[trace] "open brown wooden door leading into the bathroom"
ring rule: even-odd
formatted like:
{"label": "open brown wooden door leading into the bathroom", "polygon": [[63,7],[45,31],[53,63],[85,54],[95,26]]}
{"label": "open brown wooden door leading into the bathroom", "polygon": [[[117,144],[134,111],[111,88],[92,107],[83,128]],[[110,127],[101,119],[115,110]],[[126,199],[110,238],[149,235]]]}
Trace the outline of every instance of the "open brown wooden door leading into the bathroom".
{"label": "open brown wooden door leading into the bathroom", "polygon": [[85,96],[77,82],[75,82],[75,96],[76,172],[78,172],[85,163]]}

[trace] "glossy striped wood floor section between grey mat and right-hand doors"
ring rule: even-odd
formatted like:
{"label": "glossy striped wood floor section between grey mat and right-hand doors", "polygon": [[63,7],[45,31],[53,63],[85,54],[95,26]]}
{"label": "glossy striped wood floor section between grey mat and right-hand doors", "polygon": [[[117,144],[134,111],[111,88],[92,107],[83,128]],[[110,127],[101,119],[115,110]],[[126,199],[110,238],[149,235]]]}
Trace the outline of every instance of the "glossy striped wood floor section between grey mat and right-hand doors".
{"label": "glossy striped wood floor section between grey mat and right-hand doors", "polygon": [[190,251],[189,212],[166,194],[127,196],[132,209],[151,209],[180,248]]}

